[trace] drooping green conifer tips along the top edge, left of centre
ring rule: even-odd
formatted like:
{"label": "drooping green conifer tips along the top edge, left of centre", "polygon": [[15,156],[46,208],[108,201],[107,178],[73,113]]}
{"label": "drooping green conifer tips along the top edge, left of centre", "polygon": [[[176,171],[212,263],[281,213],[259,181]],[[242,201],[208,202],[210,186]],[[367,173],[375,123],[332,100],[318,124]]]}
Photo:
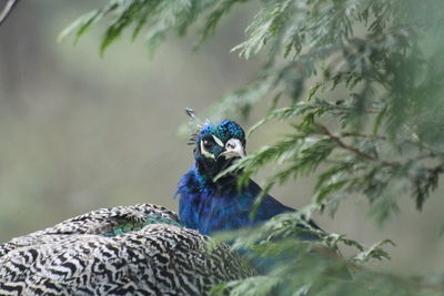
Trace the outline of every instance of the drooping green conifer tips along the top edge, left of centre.
{"label": "drooping green conifer tips along the top edge, left of centre", "polygon": [[108,18],[110,22],[103,34],[100,51],[121,37],[124,30],[132,30],[132,39],[143,31],[148,48],[154,51],[169,31],[178,35],[186,33],[188,28],[206,12],[205,23],[200,31],[201,39],[209,37],[219,20],[233,4],[242,0],[111,0],[105,7],[84,14],[60,34],[60,39],[73,34],[75,42],[94,23]]}

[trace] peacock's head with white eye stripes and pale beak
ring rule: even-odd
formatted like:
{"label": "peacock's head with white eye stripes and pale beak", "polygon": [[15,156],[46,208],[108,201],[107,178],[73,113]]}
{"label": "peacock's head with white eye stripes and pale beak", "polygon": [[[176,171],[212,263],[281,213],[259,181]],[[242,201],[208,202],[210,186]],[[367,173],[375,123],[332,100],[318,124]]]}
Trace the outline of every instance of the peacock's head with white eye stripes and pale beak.
{"label": "peacock's head with white eye stripes and pale beak", "polygon": [[245,133],[232,120],[206,122],[195,134],[194,159],[199,173],[208,180],[245,157]]}

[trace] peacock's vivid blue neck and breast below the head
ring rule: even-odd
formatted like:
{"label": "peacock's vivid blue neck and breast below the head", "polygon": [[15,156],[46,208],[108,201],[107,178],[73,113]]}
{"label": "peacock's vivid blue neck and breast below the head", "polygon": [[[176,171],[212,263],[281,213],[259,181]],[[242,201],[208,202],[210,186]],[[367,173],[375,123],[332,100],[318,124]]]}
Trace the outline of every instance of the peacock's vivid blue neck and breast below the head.
{"label": "peacock's vivid blue neck and breast below the head", "polygon": [[254,218],[250,212],[260,186],[250,181],[248,186],[238,188],[235,178],[213,183],[203,178],[193,166],[180,181],[179,215],[182,223],[202,234],[230,231],[270,220],[278,214],[294,211],[266,195]]}

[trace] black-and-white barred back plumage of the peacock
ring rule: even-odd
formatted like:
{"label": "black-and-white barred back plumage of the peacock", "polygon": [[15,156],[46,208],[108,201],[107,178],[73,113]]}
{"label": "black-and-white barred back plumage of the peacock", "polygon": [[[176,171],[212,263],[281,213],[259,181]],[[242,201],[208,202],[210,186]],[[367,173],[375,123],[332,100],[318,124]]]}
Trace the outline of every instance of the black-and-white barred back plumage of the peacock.
{"label": "black-and-white barred back plumage of the peacock", "polygon": [[101,208],[0,245],[0,295],[205,295],[256,274],[151,204]]}

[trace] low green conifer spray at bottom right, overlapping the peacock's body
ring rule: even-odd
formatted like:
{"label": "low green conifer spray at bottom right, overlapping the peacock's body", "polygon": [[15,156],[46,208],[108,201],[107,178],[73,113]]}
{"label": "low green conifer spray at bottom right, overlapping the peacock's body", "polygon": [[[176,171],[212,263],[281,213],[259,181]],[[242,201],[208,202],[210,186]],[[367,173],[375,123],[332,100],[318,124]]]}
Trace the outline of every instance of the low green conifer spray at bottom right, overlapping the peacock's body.
{"label": "low green conifer spray at bottom right, overlapping the peacock's body", "polygon": [[[344,235],[325,234],[311,228],[321,239],[297,239],[301,225],[310,227],[300,213],[274,217],[256,229],[224,233],[219,238],[233,242],[235,248],[250,247],[249,257],[280,257],[285,262],[273,266],[266,276],[233,280],[212,289],[212,295],[441,295],[442,287],[425,278],[404,278],[375,273],[364,267],[371,259],[387,259],[383,241],[365,248]],[[286,237],[285,239],[280,239]],[[279,239],[278,239],[279,238]],[[258,243],[260,242],[260,243]],[[251,247],[254,245],[254,247]],[[344,259],[339,246],[346,245],[355,254]],[[287,254],[296,254],[287,256]],[[351,275],[353,277],[351,277]]]}

